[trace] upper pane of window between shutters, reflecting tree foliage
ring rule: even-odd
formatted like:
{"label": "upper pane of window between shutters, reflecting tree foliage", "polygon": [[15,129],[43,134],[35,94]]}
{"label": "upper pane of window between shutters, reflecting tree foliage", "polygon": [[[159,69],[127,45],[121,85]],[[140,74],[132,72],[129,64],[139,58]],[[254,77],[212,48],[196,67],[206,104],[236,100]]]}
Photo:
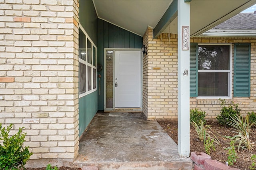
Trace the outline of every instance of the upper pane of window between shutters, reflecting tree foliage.
{"label": "upper pane of window between shutters, reflecting tree foliage", "polygon": [[198,70],[229,70],[230,45],[198,45]]}

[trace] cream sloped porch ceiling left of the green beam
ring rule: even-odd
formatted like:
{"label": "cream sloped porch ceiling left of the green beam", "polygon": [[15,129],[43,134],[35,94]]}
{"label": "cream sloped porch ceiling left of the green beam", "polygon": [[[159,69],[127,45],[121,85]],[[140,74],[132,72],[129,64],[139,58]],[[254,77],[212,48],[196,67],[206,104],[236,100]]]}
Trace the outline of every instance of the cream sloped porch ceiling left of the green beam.
{"label": "cream sloped porch ceiling left of the green beam", "polygon": [[93,0],[98,18],[138,35],[155,27],[172,0]]}

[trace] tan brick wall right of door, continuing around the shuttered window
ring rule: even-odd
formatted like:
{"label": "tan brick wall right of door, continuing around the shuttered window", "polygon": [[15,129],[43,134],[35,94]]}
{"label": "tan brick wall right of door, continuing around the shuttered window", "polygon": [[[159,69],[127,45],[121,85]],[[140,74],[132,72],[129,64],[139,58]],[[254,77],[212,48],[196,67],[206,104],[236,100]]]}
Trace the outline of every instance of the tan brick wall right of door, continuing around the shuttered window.
{"label": "tan brick wall right of door, continuing around the shuttered window", "polygon": [[[178,117],[178,42],[177,35],[162,33],[153,39],[152,28],[143,36],[143,43],[148,47],[148,55],[143,63],[143,111],[148,119]],[[191,43],[251,43],[251,96],[234,98],[242,109],[241,113],[256,111],[256,38],[192,38]],[[232,47],[232,65],[234,65],[234,45]],[[234,73],[234,71],[233,71]],[[233,74],[232,74],[233,77]],[[232,82],[233,84],[233,82]],[[232,86],[233,88],[233,86]],[[233,90],[232,90],[233,96]],[[230,103],[230,100],[227,100]],[[206,111],[208,119],[216,118],[220,113],[218,99],[190,98],[190,109]]]}

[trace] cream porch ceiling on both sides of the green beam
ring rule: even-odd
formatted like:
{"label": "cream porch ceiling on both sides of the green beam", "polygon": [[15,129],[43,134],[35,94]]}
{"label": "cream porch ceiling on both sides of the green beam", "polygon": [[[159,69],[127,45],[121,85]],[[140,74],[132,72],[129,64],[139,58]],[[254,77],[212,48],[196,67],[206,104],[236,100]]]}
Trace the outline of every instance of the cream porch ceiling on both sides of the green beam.
{"label": "cream porch ceiling on both sides of the green beam", "polygon": [[[98,18],[138,35],[144,35],[148,26],[156,27],[173,0],[93,0]],[[256,4],[256,0],[191,0],[190,35],[197,36]],[[177,34],[178,20],[164,33]]]}

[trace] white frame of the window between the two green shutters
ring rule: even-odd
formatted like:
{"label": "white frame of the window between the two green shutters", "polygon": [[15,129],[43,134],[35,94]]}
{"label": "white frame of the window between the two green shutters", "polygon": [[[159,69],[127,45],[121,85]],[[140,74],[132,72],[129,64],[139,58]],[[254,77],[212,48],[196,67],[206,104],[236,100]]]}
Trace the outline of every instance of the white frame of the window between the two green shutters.
{"label": "white frame of the window between the two green shutters", "polygon": [[[198,73],[199,72],[228,72],[228,96],[197,96],[198,99],[231,99],[232,98],[232,53],[233,53],[233,49],[232,49],[232,43],[198,43],[199,45],[229,45],[230,46],[230,58],[229,58],[229,68],[230,70],[199,70],[198,69]],[[198,50],[198,49],[197,49]],[[199,81],[199,80],[197,80]]]}

